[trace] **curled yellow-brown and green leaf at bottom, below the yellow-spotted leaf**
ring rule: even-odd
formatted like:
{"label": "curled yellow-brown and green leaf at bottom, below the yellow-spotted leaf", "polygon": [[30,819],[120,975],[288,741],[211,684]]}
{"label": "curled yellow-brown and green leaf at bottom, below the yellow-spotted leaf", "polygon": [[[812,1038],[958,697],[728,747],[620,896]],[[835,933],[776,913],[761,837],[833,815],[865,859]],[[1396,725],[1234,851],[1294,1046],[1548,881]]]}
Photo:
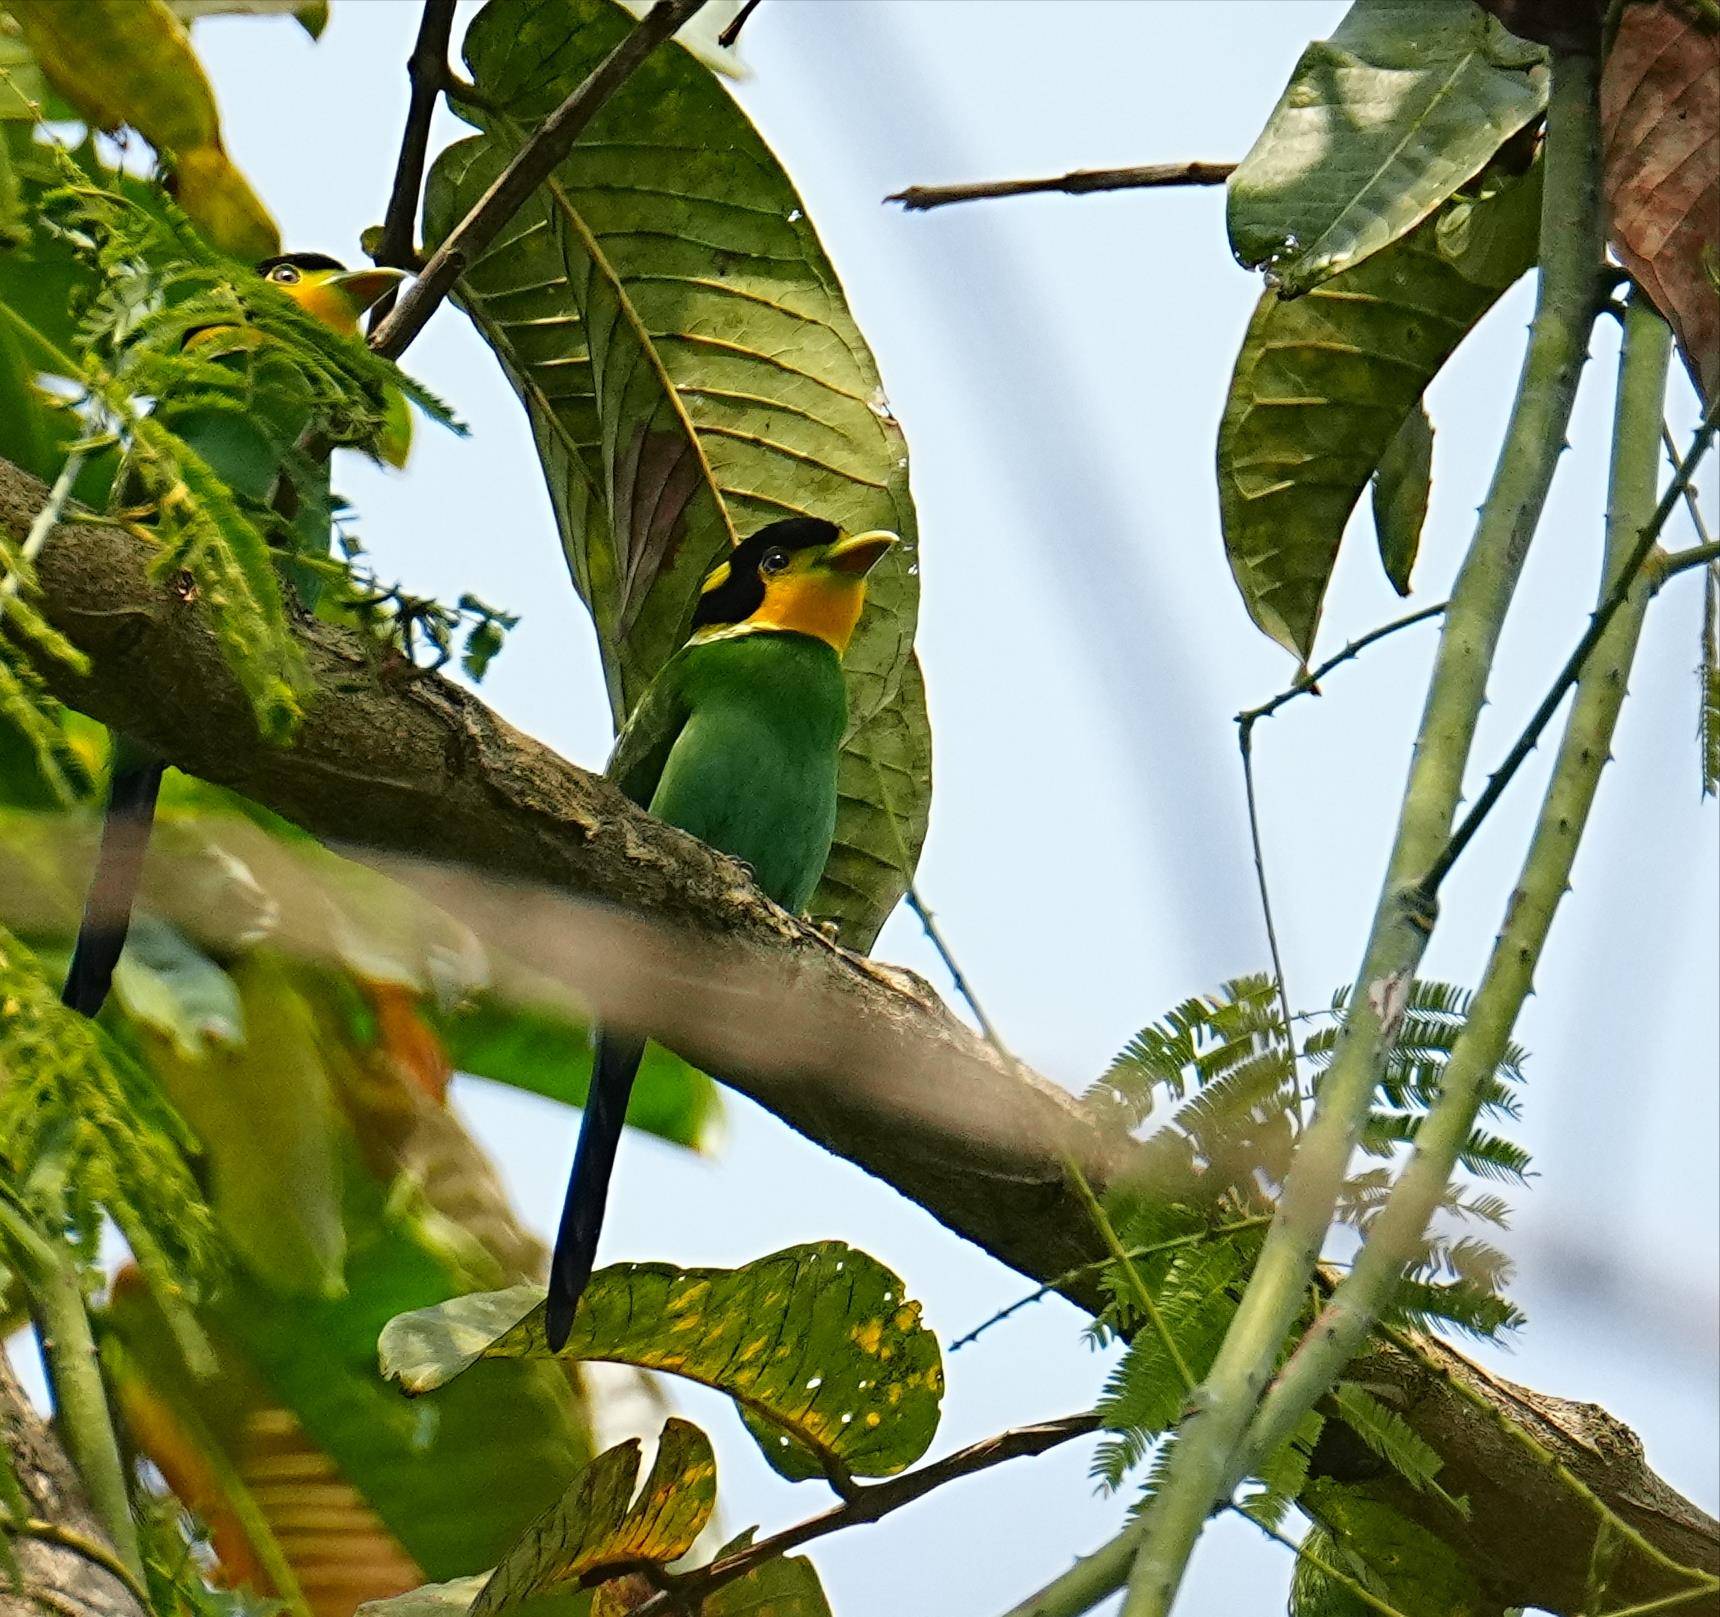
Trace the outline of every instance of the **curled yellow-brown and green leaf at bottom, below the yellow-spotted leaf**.
{"label": "curled yellow-brown and green leaf at bottom, below the yellow-spotted leaf", "polygon": [[717,1503],[717,1459],[690,1421],[671,1417],[638,1490],[640,1445],[630,1438],[587,1466],[525,1533],[471,1603],[494,1617],[533,1595],[578,1586],[605,1567],[667,1565],[693,1548]]}

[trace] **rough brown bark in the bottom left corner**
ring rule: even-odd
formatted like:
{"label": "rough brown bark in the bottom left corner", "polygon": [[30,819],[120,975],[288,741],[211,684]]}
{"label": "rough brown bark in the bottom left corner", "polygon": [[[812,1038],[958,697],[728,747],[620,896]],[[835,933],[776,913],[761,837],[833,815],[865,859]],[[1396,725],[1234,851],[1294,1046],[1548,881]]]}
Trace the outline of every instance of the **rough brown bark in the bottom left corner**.
{"label": "rough brown bark in the bottom left corner", "polygon": [[[36,1521],[107,1548],[72,1462],[36,1414],[0,1352],[0,1443]],[[17,1555],[21,1588],[0,1577],[0,1617],[144,1617],[132,1593],[105,1567],[65,1543],[7,1534]]]}

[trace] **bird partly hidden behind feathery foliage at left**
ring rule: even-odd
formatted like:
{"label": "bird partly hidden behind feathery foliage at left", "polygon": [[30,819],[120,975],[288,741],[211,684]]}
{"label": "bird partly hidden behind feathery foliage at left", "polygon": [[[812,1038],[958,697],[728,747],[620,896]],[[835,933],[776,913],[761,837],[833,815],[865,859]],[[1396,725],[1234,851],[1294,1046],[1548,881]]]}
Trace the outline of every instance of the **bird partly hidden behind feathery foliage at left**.
{"label": "bird partly hidden behind feathery foliage at left", "polygon": [[[265,258],[256,274],[286,292],[301,310],[330,330],[358,337],[358,322],[384,292],[402,279],[399,270],[347,270],[341,260],[325,253],[286,253]],[[186,346],[220,349],[232,341],[230,363],[243,363],[244,347],[241,327],[200,327],[186,337]],[[291,442],[308,406],[291,390],[258,390],[256,411],[277,411],[284,418],[260,421],[246,415],[218,409],[172,411],[174,432],[184,439],[220,476],[220,480],[251,506],[268,501],[280,470],[280,442]],[[404,401],[401,403],[404,409]],[[253,411],[255,415],[255,411]],[[392,403],[390,403],[392,416]],[[303,420],[299,420],[303,418]],[[392,427],[390,420],[390,427]],[[387,454],[387,446],[378,452]],[[320,523],[320,532],[310,532]],[[327,506],[318,509],[301,502],[298,521],[289,535],[292,549],[320,549],[329,545]],[[291,568],[291,563],[289,563]],[[296,575],[304,580],[301,588],[315,587],[315,573]],[[101,845],[96,852],[95,872],[84,898],[84,915],[72,946],[72,963],[60,991],[64,1005],[86,1017],[96,1015],[114,986],[114,970],[126,948],[131,931],[131,908],[143,874],[143,855],[150,843],[155,821],[155,803],[162,790],[167,764],[155,752],[124,735],[114,738],[114,760],[108,776],[107,814],[101,822]]]}

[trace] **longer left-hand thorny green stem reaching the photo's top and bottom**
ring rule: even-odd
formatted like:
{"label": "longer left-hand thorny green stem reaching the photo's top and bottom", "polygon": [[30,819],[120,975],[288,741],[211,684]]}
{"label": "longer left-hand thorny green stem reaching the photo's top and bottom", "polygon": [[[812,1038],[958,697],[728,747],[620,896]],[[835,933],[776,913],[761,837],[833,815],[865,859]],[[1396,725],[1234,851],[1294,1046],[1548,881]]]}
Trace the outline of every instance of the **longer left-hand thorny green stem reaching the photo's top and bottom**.
{"label": "longer left-hand thorny green stem reaching the photo's top and bottom", "polygon": [[1594,320],[1603,253],[1596,103],[1598,62],[1555,52],[1536,318],[1493,487],[1447,607],[1397,843],[1350,1017],[1242,1306],[1178,1428],[1159,1491],[1139,1522],[1125,1529],[1139,1545],[1125,1617],[1168,1617],[1202,1524],[1221,1500],[1256,1402],[1319,1259],[1433,931],[1421,876],[1450,833],[1495,647],[1563,449]]}

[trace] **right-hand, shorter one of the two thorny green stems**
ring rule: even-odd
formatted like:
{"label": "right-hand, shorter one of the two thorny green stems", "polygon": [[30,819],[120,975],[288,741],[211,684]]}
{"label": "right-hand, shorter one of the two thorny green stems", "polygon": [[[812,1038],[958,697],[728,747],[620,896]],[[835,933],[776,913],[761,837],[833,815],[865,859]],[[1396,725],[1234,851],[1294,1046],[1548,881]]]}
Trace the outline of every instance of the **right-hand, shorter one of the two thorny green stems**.
{"label": "right-hand, shorter one of the two thorny green stems", "polygon": [[1619,360],[1606,552],[1598,592],[1605,604],[1624,588],[1625,606],[1612,616],[1577,679],[1577,697],[1522,874],[1464,1030],[1447,1061],[1440,1097],[1422,1122],[1416,1149],[1350,1273],[1266,1393],[1249,1428],[1244,1455],[1232,1467],[1233,1485],[1275,1454],[1336,1381],[1390,1304],[1404,1266],[1422,1251],[1428,1223],[1445,1197],[1464,1141],[1474,1127],[1486,1080],[1503,1060],[1529,998],[1534,968],[1570,884],[1601,769],[1612,755],[1613,728],[1653,595],[1649,581],[1631,564],[1655,509],[1660,411],[1670,358],[1670,329],[1641,294],[1632,296]]}

